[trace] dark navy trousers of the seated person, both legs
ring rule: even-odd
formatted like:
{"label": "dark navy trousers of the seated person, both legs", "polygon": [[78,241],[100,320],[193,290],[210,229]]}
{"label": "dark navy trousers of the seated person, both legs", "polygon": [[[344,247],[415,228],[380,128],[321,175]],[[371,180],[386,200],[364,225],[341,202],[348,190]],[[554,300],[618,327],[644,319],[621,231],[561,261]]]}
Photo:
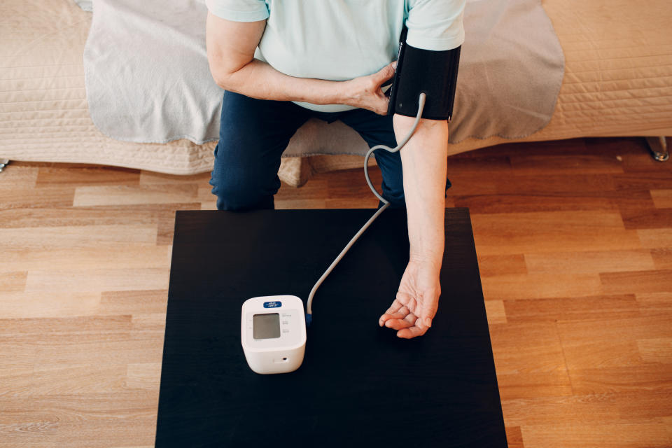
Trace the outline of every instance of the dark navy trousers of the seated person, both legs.
{"label": "dark navy trousers of the seated person, both legs", "polygon": [[[356,130],[369,148],[379,144],[394,148],[397,144],[391,116],[365,109],[316,112],[293,102],[255,99],[227,91],[210,179],[217,208],[272,209],[273,195],[280,188],[280,157],[289,139],[311,117],[327,123],[341,120]],[[377,150],[374,155],[383,175],[383,197],[391,207],[405,207],[399,153]]]}

